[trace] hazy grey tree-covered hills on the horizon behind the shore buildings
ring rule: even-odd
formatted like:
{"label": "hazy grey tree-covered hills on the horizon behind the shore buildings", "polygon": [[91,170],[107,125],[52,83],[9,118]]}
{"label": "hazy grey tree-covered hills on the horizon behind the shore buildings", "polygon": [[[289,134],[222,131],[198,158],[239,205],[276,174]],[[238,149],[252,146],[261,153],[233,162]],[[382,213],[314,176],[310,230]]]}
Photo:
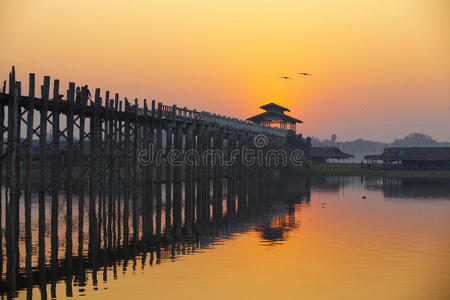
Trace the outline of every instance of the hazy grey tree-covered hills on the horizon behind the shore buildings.
{"label": "hazy grey tree-covered hills on the horizon behind the shore buildings", "polygon": [[338,140],[319,140],[312,138],[311,143],[313,147],[339,147],[344,152],[353,154],[354,162],[359,162],[364,155],[380,154],[384,148],[387,147],[450,147],[450,142],[438,142],[431,136],[422,133],[410,133],[404,138],[396,139],[392,143],[383,143],[377,141],[370,141],[364,139],[356,139],[354,141],[341,142]]}

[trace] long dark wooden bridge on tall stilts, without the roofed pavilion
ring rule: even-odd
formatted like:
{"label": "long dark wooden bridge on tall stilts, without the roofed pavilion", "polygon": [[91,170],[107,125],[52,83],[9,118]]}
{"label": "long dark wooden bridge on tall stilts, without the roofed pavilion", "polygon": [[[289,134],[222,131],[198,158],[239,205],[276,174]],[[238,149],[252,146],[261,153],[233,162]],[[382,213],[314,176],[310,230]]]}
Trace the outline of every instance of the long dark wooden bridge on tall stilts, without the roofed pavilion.
{"label": "long dark wooden bridge on tall stilts, without the roofed pavilion", "polygon": [[[51,224],[57,223],[61,192],[66,204],[67,247],[72,243],[74,195],[81,207],[78,224],[84,218],[84,207],[89,210],[90,243],[95,244],[100,238],[97,212],[118,210],[120,203],[124,210],[122,220],[105,217],[104,224],[112,226],[116,221],[123,222],[123,239],[128,243],[131,214],[131,238],[136,241],[142,230],[145,243],[153,232],[149,212],[153,210],[153,195],[162,193],[159,183],[167,183],[166,203],[170,206],[171,197],[182,193],[180,185],[174,183],[186,182],[184,195],[193,197],[194,193],[209,193],[204,185],[195,188],[194,181],[257,176],[271,168],[265,163],[244,164],[242,152],[232,160],[233,150],[245,146],[264,153],[269,149],[284,149],[287,144],[286,130],[236,118],[155,101],[148,105],[146,99],[143,107],[139,107],[138,99],[132,104],[127,98],[121,100],[118,94],[112,98],[109,91],[102,98],[100,89],[95,89],[91,101],[85,90],[76,93],[73,82],[69,83],[63,100],[58,79],[53,81],[50,97],[49,76],[44,76],[40,98],[36,95],[34,74],[29,74],[28,95],[22,95],[21,90],[22,84],[16,81],[13,67],[0,93],[0,258],[3,261],[5,232],[7,282],[13,282],[17,275],[21,230],[25,232],[26,268],[32,268],[31,201],[34,194],[38,195],[39,207],[39,261],[45,261],[47,199],[51,203]],[[258,135],[266,139],[263,145],[255,144],[254,138]],[[140,153],[150,146],[163,153],[163,163],[140,163]],[[178,153],[195,150],[200,157],[207,157],[206,163],[186,164],[178,155],[175,157],[178,163],[169,164],[171,150],[178,150]],[[222,151],[233,163],[215,163],[213,156],[204,155],[212,150]],[[220,181],[217,184],[216,191],[223,192]],[[19,226],[22,200],[23,229]],[[82,236],[83,227],[79,230]],[[51,226],[51,235],[51,247],[57,253],[58,226]],[[57,260],[57,257],[52,259]]]}

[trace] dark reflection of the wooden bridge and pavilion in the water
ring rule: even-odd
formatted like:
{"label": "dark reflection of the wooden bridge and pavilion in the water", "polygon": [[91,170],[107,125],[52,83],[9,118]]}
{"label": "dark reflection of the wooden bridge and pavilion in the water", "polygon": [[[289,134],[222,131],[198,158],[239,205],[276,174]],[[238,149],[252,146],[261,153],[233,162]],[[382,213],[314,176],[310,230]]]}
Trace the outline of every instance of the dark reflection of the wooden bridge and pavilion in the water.
{"label": "dark reflection of the wooden bridge and pavilion in the water", "polygon": [[[123,199],[107,206],[105,195],[99,196],[95,211],[88,211],[76,205],[75,195],[73,217],[78,223],[67,234],[66,196],[60,195],[58,222],[48,222],[45,235],[38,235],[39,224],[32,223],[33,251],[31,257],[20,256],[16,278],[3,273],[6,261],[2,257],[1,294],[9,298],[26,290],[29,299],[33,295],[42,299],[83,295],[86,285],[97,289],[99,280],[116,279],[118,273],[134,270],[139,261],[142,267],[173,261],[249,230],[259,232],[262,244],[276,245],[299,226],[295,220],[298,204],[309,205],[310,201],[309,180],[273,176],[161,183],[153,190],[153,201],[141,198],[136,214]],[[32,197],[33,221],[38,220],[37,198]],[[92,214],[97,217],[97,228],[87,231]],[[24,216],[20,218],[22,226]],[[60,236],[54,236],[58,232]],[[21,253],[26,252],[25,236],[20,233]],[[51,245],[49,252],[41,247],[45,244]],[[57,295],[58,285],[65,285],[65,295]]]}

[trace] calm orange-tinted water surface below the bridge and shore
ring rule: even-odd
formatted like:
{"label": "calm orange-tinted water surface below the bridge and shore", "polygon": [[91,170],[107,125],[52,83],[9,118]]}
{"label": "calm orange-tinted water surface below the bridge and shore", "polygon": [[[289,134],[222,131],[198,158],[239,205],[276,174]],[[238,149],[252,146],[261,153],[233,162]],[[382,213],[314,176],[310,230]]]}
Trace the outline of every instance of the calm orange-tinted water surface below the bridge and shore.
{"label": "calm orange-tinted water surface below the bridge and shore", "polygon": [[[17,296],[450,299],[448,179],[301,177],[211,182],[192,199],[186,198],[184,185],[178,187],[180,198],[173,187],[170,205],[166,205],[166,186],[160,188],[148,247],[142,243],[140,220],[138,242],[132,242],[131,213],[126,247],[121,246],[120,222],[106,231],[100,222],[99,243],[92,246],[88,210],[80,237],[74,199],[73,256],[65,248],[62,195],[58,261],[51,261],[48,222],[46,265],[40,269],[36,200],[33,281],[27,280],[23,268],[22,237]],[[102,220],[102,209],[98,212]],[[107,222],[104,225],[108,228]],[[2,298],[6,286],[2,272]]]}

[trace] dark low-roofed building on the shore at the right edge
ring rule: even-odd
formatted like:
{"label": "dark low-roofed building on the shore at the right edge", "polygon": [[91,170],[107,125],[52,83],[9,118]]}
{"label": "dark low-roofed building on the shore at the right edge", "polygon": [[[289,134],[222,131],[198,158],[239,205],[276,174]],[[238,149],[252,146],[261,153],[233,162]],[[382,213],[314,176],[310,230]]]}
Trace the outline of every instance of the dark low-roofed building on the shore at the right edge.
{"label": "dark low-roofed building on the shore at the right edge", "polygon": [[391,147],[364,159],[373,169],[450,170],[450,147]]}

